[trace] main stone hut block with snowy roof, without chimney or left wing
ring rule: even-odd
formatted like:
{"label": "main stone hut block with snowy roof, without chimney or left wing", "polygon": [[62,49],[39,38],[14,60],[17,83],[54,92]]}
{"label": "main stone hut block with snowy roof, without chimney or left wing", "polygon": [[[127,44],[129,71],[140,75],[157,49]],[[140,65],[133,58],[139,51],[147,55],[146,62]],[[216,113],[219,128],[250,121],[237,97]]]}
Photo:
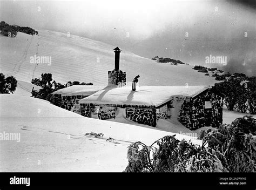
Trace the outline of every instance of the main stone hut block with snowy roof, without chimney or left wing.
{"label": "main stone hut block with snowy roof, without chimney or left wing", "polygon": [[106,87],[79,104],[85,117],[98,107],[99,119],[112,119],[123,108],[127,119],[153,127],[159,119],[177,120],[191,130],[222,124],[222,97],[209,86]]}

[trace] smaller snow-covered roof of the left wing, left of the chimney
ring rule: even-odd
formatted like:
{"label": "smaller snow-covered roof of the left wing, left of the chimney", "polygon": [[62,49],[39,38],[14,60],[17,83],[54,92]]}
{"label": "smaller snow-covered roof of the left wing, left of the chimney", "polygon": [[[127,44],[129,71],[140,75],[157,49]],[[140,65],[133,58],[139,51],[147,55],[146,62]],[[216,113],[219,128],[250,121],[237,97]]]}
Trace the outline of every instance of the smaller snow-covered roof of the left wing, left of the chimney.
{"label": "smaller snow-covered roof of the left wing, left of the chimney", "polygon": [[90,96],[91,94],[104,89],[105,86],[95,86],[95,85],[73,85],[66,87],[65,89],[60,89],[53,94],[62,94],[62,96]]}

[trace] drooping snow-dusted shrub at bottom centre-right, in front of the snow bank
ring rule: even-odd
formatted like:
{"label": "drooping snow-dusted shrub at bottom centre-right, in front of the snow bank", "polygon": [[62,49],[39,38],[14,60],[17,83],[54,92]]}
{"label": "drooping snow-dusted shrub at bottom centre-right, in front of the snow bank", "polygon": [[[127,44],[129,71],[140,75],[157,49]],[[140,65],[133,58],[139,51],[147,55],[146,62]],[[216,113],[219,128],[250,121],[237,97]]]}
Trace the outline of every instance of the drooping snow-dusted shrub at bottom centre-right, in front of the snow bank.
{"label": "drooping snow-dusted shrub at bottom centre-right, in front of the snow bank", "polygon": [[[157,147],[156,147],[157,146]],[[135,142],[128,148],[125,172],[225,172],[215,151],[165,136],[151,146]]]}

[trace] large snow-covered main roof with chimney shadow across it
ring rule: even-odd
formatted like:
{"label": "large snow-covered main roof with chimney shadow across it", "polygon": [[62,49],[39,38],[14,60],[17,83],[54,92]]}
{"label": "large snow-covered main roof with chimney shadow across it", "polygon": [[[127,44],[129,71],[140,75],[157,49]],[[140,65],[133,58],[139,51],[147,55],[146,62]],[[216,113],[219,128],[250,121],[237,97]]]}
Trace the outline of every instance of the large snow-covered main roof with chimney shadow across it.
{"label": "large snow-covered main roof with chimney shadow across it", "polygon": [[174,97],[194,97],[209,88],[209,86],[139,86],[136,91],[132,91],[130,86],[106,87],[83,98],[79,103],[154,105],[158,107]]}

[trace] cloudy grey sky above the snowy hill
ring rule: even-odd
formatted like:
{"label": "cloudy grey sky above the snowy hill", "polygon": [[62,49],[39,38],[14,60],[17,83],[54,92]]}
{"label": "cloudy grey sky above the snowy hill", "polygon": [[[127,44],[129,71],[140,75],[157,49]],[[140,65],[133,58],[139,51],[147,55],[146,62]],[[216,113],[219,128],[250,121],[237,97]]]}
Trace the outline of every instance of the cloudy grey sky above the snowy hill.
{"label": "cloudy grey sky above the snowy hill", "polygon": [[[254,1],[85,0],[0,1],[8,24],[70,32],[139,56],[256,75]],[[206,64],[207,56],[227,64]]]}

